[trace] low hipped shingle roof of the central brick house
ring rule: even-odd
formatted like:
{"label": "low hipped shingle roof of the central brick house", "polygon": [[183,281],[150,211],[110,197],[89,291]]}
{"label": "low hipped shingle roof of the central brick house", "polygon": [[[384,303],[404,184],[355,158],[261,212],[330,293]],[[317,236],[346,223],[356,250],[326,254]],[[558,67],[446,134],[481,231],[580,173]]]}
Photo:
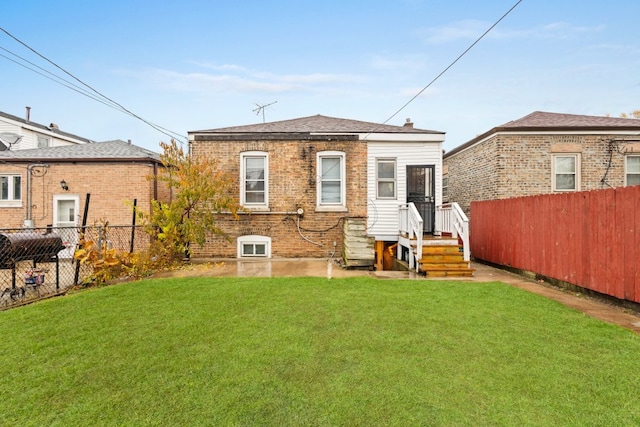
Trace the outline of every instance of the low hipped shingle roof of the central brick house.
{"label": "low hipped shingle roof of the central brick house", "polygon": [[416,129],[412,126],[393,126],[359,120],[340,119],[320,114],[278,122],[232,126],[219,129],[190,131],[189,134],[286,134],[286,133],[413,133],[442,134],[444,132]]}

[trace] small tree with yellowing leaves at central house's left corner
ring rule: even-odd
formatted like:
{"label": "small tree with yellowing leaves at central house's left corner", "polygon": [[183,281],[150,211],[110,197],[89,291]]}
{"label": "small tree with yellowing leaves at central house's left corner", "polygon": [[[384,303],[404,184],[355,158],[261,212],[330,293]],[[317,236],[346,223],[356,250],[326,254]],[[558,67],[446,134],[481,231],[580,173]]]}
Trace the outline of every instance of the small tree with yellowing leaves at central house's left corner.
{"label": "small tree with yellowing leaves at central house's left corner", "polygon": [[193,157],[175,140],[160,143],[164,168],[155,178],[172,191],[172,200],[153,201],[151,212],[140,213],[147,232],[156,237],[152,252],[167,262],[190,254],[189,245],[203,245],[207,234],[225,235],[216,214],[237,215],[239,204],[231,196],[234,180],[209,156]]}

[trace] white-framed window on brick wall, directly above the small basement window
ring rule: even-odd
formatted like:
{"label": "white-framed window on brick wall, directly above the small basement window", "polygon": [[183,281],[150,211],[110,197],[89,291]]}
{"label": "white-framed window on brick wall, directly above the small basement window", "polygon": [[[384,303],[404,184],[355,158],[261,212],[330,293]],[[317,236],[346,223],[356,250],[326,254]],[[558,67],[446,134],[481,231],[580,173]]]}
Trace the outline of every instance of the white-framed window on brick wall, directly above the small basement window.
{"label": "white-framed window on brick wall, directly above the small basement window", "polygon": [[263,151],[242,153],[240,173],[242,187],[240,200],[247,208],[269,206],[269,156]]}

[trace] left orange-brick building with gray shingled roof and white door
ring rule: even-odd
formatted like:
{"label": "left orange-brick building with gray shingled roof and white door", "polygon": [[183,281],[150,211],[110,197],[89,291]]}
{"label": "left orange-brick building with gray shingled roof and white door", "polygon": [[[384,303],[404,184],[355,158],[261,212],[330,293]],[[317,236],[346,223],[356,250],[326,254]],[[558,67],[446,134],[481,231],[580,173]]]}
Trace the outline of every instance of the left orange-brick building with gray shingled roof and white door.
{"label": "left orange-brick building with gray shingled roof and white door", "polygon": [[0,151],[0,228],[75,226],[87,194],[86,223],[132,222],[132,205],[149,211],[169,192],[154,176],[157,153],[124,141]]}

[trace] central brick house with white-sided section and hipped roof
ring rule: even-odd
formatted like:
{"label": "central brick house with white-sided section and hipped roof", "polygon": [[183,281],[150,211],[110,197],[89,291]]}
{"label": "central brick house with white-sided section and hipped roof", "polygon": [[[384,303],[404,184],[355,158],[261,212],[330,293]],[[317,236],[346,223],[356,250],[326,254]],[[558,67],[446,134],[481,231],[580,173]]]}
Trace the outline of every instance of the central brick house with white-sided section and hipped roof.
{"label": "central brick house with white-sided section and hipped roof", "polygon": [[372,261],[374,241],[398,240],[408,175],[421,178],[421,201],[440,201],[443,140],[410,122],[321,115],[189,132],[193,156],[212,156],[238,177],[244,208],[239,219],[220,215],[228,239],[212,236],[194,255],[339,257],[361,245]]}

